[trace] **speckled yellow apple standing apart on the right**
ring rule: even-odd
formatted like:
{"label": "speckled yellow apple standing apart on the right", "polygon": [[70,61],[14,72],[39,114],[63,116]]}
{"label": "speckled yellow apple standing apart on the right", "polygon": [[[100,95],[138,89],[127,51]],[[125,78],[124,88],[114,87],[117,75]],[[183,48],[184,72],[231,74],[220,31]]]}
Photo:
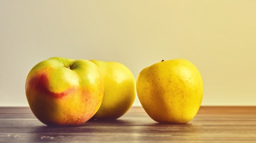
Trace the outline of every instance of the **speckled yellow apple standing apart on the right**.
{"label": "speckled yellow apple standing apart on the right", "polygon": [[137,77],[137,95],[146,113],[159,123],[185,124],[198,113],[203,82],[185,59],[155,63]]}

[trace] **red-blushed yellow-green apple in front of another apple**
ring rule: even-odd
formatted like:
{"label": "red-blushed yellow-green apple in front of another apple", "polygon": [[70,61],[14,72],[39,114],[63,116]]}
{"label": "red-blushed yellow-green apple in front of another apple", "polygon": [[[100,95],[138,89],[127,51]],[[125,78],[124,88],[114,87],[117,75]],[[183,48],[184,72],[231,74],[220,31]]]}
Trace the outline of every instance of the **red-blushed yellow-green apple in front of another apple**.
{"label": "red-blushed yellow-green apple in front of another apple", "polygon": [[53,57],[31,69],[25,93],[31,111],[43,124],[78,126],[98,111],[104,82],[91,61]]}

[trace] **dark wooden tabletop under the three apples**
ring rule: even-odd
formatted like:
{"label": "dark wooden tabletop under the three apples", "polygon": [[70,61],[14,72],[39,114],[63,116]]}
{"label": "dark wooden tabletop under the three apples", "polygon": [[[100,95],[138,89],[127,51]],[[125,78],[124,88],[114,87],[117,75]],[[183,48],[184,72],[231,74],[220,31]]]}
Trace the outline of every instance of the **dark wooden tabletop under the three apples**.
{"label": "dark wooden tabletop under the three apples", "polygon": [[115,121],[78,127],[42,124],[29,107],[0,107],[1,143],[256,143],[256,106],[202,106],[188,124],[159,124],[141,107]]}

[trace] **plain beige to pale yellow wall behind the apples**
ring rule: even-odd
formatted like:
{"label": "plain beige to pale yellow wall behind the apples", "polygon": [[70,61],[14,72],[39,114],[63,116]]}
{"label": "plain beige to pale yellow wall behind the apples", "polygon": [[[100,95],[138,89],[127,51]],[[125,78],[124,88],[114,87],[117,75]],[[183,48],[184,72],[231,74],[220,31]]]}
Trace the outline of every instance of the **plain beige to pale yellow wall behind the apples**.
{"label": "plain beige to pale yellow wall behind the apples", "polygon": [[28,106],[26,76],[52,56],[118,61],[135,78],[185,58],[202,74],[202,105],[256,105],[255,8],[255,0],[0,0],[0,106]]}

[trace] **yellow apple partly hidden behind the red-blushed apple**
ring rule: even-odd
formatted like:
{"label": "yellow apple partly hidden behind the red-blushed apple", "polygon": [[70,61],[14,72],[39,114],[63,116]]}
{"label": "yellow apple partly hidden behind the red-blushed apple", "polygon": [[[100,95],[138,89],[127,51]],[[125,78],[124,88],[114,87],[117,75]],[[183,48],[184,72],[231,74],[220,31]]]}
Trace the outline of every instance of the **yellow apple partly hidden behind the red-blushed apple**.
{"label": "yellow apple partly hidden behind the red-blushed apple", "polygon": [[119,62],[90,60],[96,64],[104,80],[102,104],[92,119],[117,119],[132,106],[136,97],[136,81],[128,67]]}

